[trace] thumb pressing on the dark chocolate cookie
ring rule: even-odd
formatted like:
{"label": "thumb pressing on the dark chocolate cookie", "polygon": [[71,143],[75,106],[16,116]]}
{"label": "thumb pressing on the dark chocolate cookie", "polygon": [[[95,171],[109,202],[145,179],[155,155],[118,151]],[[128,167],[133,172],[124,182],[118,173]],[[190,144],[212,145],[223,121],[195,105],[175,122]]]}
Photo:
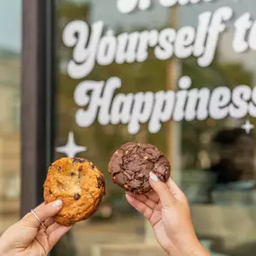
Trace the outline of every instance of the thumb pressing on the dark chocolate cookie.
{"label": "thumb pressing on the dark chocolate cookie", "polygon": [[176,199],[173,197],[169,187],[162,181],[159,181],[154,172],[150,172],[149,182],[152,189],[157,193],[162,207],[172,207]]}

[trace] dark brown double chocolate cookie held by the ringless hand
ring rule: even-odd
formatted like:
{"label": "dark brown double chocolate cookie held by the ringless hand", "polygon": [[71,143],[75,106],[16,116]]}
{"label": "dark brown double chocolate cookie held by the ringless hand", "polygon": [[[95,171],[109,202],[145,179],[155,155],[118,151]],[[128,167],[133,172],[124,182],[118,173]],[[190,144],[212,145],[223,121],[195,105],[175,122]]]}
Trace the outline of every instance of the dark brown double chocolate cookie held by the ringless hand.
{"label": "dark brown double chocolate cookie held by the ringless hand", "polygon": [[171,175],[171,164],[155,146],[128,142],[111,156],[109,172],[112,181],[124,190],[144,194],[152,190],[149,172],[166,182]]}

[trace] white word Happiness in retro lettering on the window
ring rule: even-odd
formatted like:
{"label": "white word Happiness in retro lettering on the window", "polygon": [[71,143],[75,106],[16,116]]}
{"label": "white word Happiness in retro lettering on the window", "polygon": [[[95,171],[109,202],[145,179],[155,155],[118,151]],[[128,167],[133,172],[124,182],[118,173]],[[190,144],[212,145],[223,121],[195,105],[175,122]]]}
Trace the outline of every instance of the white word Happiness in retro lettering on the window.
{"label": "white word Happiness in retro lettering on the window", "polygon": [[75,103],[81,107],[76,111],[75,121],[86,128],[96,119],[102,125],[128,125],[128,132],[136,134],[140,125],[148,122],[150,133],[157,133],[162,123],[174,121],[241,119],[247,114],[256,118],[256,87],[240,85],[232,91],[225,86],[190,88],[189,76],[181,77],[180,90],[157,93],[115,93],[121,87],[118,77],[107,82],[84,81],[75,89]]}

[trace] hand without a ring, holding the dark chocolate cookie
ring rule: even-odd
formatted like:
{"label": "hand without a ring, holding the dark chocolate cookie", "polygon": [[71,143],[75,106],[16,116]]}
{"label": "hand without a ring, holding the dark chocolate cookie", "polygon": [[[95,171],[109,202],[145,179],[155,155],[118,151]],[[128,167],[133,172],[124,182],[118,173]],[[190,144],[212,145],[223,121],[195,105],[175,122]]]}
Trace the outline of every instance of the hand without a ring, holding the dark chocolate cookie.
{"label": "hand without a ring, holding the dark chocolate cookie", "polygon": [[146,195],[127,192],[131,206],[146,216],[154,228],[154,235],[163,250],[170,256],[209,256],[195,234],[190,207],[186,196],[170,179],[167,184],[150,173],[154,191]]}

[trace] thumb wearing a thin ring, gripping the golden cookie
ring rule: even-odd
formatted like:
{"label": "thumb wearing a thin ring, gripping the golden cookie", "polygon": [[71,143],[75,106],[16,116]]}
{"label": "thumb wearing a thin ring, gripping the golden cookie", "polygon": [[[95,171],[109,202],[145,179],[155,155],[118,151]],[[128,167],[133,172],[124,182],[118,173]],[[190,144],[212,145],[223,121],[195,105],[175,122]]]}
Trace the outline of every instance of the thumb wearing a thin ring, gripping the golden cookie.
{"label": "thumb wearing a thin ring, gripping the golden cookie", "polygon": [[60,199],[49,204],[42,203],[39,207],[36,207],[33,211],[40,220],[37,219],[32,213],[27,214],[22,218],[22,225],[27,225],[33,228],[39,228],[41,222],[44,222],[50,216],[55,216],[60,211],[63,203]]}

